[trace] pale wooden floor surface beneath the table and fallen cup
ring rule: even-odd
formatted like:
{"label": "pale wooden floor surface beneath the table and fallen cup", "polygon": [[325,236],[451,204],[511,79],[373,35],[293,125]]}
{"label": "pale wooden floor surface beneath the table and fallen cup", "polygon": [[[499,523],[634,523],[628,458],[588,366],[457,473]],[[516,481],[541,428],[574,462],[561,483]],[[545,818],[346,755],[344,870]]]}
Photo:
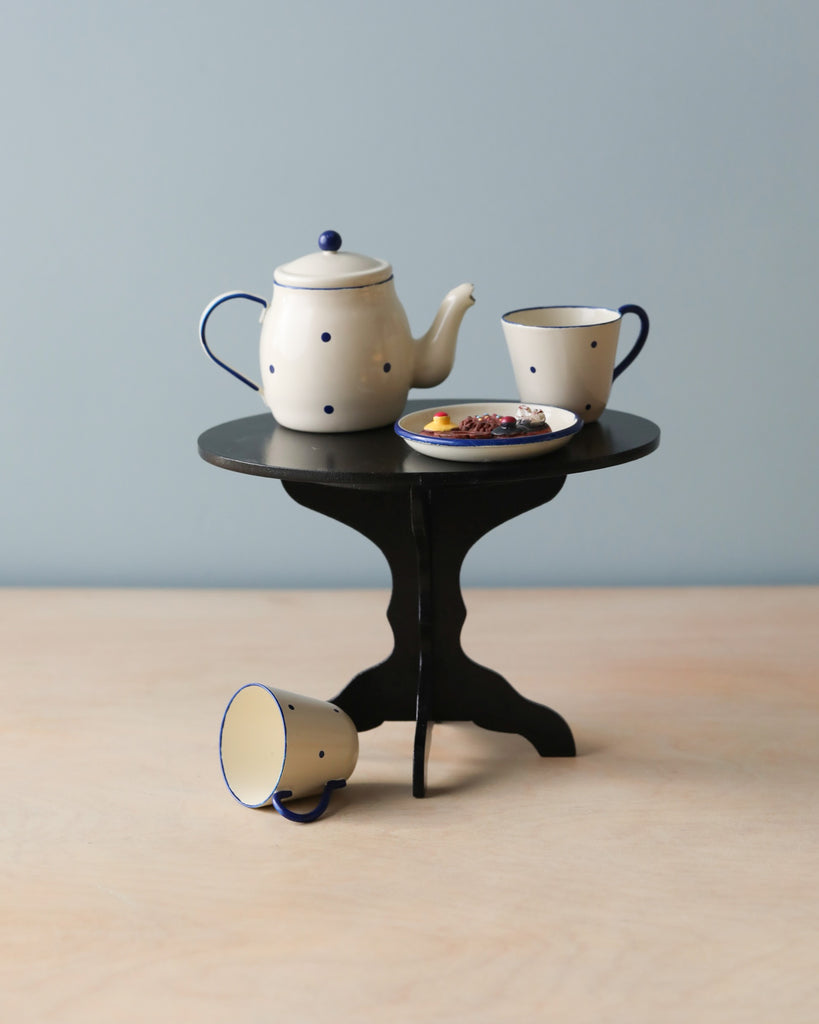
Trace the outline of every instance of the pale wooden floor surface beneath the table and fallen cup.
{"label": "pale wooden floor surface beneath the table and fallen cup", "polygon": [[819,588],[467,591],[578,757],[362,733],[315,824],[234,802],[260,681],[331,696],[380,592],[0,591],[0,1019],[815,1022]]}

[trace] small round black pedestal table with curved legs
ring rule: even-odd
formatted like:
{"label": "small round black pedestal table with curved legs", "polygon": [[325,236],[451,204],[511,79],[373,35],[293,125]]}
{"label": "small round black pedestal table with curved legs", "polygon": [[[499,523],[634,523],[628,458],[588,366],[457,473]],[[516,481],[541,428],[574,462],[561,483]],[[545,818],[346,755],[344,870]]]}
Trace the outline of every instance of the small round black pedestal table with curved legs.
{"label": "small round black pedestal table with curved legs", "polygon": [[[465,400],[439,399],[437,406]],[[410,401],[406,412],[429,408]],[[289,430],[262,414],[206,430],[206,462],[282,480],[300,505],[370,538],[392,571],[392,653],[358,673],[333,702],[359,730],[415,721],[413,794],[425,794],[433,722],[471,721],[525,736],[544,757],[571,757],[574,738],[551,708],[466,655],[461,565],[490,529],[551,501],[567,476],[641,459],[659,444],[650,420],[607,410],[556,452],[500,463],[456,463],[412,451],[392,427],[346,434]]]}

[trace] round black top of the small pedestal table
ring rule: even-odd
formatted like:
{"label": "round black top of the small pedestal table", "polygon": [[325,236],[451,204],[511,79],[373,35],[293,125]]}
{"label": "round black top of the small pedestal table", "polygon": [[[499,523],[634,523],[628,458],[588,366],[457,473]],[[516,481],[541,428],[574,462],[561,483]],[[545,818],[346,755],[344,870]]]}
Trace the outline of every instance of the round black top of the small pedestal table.
{"label": "round black top of the small pedestal table", "polygon": [[[441,398],[438,404],[467,400]],[[405,412],[425,409],[429,398],[414,399]],[[272,415],[232,420],[206,430],[199,438],[206,462],[254,476],[282,480],[404,487],[413,483],[528,480],[583,473],[649,455],[659,444],[659,428],[650,420],[606,410],[568,444],[535,459],[503,463],[456,463],[420,455],[393,428],[356,433],[312,434],[289,430]]]}

